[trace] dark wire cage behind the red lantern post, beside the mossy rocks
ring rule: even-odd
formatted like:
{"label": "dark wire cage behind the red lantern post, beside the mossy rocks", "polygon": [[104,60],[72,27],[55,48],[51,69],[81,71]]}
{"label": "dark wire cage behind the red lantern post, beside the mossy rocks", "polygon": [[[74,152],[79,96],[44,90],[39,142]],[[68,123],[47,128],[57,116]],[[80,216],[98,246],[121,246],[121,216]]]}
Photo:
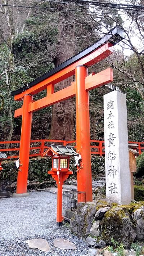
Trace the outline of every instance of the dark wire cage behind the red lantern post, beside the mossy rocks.
{"label": "dark wire cage behind the red lantern post, beside the mossy rocks", "polygon": [[77,203],[86,202],[86,193],[70,190],[63,192],[63,216],[64,220],[70,221],[76,211]]}

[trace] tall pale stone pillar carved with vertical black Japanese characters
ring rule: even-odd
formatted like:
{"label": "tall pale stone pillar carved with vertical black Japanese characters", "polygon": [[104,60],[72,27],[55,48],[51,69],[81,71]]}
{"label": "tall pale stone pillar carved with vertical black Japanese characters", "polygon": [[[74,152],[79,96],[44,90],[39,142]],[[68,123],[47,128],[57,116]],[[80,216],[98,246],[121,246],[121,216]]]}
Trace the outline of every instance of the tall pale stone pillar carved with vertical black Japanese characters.
{"label": "tall pale stone pillar carved with vertical black Japanese characters", "polygon": [[126,95],[104,95],[104,142],[106,194],[109,203],[131,202]]}

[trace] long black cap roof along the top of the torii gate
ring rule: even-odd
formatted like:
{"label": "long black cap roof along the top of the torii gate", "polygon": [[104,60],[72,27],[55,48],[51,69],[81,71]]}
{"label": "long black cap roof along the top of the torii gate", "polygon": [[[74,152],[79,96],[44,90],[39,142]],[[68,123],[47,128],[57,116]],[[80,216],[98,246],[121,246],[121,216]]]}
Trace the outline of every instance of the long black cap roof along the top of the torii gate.
{"label": "long black cap roof along the top of the torii gate", "polygon": [[124,32],[120,26],[114,27],[112,30],[110,30],[108,33],[106,33],[105,36],[101,37],[100,39],[96,40],[96,42],[89,47],[85,48],[84,50],[80,51],[80,53],[74,55],[73,57],[69,58],[68,60],[64,61],[57,67],[51,69],[49,72],[45,73],[44,75],[36,78],[32,82],[30,82],[28,85],[24,85],[23,87],[19,88],[16,91],[11,92],[11,96],[15,96],[19,93],[22,93],[23,91],[26,91],[27,89],[31,88],[32,86],[38,84],[39,82],[45,80],[46,78],[50,77],[54,73],[57,73],[58,71],[62,70],[63,68],[66,68],[67,66],[71,65],[72,63],[76,62],[77,60],[83,58],[87,54],[90,54],[103,44],[107,42],[111,42],[113,45],[118,44],[122,39],[124,39]]}

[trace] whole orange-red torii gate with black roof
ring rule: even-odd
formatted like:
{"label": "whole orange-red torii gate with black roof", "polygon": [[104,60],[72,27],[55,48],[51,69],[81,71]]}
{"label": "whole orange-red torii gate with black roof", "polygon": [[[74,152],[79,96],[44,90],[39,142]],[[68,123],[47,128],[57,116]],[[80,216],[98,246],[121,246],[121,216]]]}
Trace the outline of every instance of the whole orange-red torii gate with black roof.
{"label": "whole orange-red torii gate with black roof", "polygon": [[[22,116],[20,166],[17,178],[17,196],[27,195],[28,162],[30,153],[32,112],[76,96],[76,141],[81,154],[81,166],[77,170],[77,189],[86,192],[86,201],[92,201],[89,90],[113,81],[113,71],[107,68],[88,75],[87,67],[113,53],[113,45],[123,39],[123,31],[115,27],[95,44],[32,81],[17,91],[11,92],[15,100],[23,100],[23,106],[15,110],[14,117]],[[75,82],[54,92],[54,84],[75,75]],[[47,89],[46,97],[33,101],[34,94]]]}

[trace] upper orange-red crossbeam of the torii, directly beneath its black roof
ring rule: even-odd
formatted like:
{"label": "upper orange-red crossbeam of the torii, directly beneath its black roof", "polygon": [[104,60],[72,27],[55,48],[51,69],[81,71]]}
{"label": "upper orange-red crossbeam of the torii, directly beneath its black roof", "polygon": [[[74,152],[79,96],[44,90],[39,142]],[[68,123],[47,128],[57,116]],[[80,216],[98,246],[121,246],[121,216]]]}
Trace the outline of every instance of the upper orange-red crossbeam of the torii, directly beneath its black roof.
{"label": "upper orange-red crossbeam of the torii, directly beneath its black roof", "polygon": [[[46,78],[45,80],[37,83],[35,86],[23,91],[22,93],[15,95],[15,100],[22,100],[25,94],[37,94],[42,90],[45,90],[49,84],[57,84],[58,82],[68,78],[69,76],[75,75],[75,68],[78,65],[84,66],[92,66],[95,63],[100,62],[100,60],[105,59],[110,54],[113,53],[113,44],[107,43],[102,45],[100,48],[94,50],[92,53],[86,55],[84,58],[76,61],[75,63],[69,65],[68,67],[60,70],[59,72],[55,73],[54,75]],[[70,90],[70,88],[69,88]],[[74,95],[73,95],[74,96]],[[68,97],[69,98],[69,97]],[[63,99],[61,99],[63,100]],[[54,104],[54,103],[53,103]]]}

